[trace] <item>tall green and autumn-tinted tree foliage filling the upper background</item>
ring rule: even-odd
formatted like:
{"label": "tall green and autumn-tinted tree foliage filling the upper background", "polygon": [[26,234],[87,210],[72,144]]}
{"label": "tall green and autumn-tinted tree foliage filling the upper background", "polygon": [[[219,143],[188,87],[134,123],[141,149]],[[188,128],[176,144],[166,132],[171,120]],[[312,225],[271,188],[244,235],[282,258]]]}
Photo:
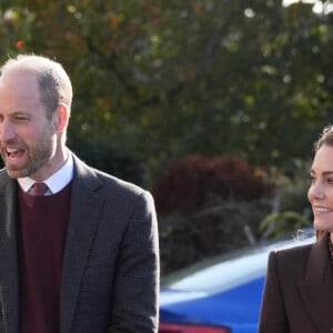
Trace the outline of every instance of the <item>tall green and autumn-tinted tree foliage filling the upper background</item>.
{"label": "tall green and autumn-tinted tree foliage filling the upper background", "polygon": [[235,154],[289,171],[332,112],[332,13],[271,0],[1,1],[0,61],[61,61],[70,138],[144,161]]}

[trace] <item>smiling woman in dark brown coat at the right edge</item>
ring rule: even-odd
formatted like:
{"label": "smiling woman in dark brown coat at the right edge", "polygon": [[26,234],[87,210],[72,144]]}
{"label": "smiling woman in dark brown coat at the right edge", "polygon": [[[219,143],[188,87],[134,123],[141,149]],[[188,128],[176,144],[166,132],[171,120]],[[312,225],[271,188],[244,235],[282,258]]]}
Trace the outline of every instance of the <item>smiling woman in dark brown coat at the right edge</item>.
{"label": "smiling woman in dark brown coat at the right edge", "polygon": [[270,254],[259,333],[333,332],[333,127],[315,143],[307,192],[317,240]]}

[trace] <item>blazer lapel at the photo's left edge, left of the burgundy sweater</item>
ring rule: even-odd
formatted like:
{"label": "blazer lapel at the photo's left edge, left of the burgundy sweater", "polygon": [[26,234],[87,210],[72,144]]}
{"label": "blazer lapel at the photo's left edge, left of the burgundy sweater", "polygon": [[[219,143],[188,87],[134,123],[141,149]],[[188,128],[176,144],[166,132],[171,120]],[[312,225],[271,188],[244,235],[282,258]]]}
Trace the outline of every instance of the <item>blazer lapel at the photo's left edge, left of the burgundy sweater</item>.
{"label": "blazer lapel at the photo's left edge, left of the burgundy sweater", "polygon": [[0,311],[2,307],[7,333],[17,333],[19,323],[16,198],[16,181],[2,173],[0,179]]}

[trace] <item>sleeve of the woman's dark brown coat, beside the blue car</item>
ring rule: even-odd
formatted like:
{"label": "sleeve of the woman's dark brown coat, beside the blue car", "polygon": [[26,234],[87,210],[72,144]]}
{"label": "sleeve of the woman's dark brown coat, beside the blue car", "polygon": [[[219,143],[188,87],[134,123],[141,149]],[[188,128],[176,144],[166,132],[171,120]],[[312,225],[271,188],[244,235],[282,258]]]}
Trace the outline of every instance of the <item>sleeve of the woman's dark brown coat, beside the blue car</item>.
{"label": "sleeve of the woman's dark brown coat, beside the blue car", "polygon": [[283,293],[280,284],[279,252],[269,256],[263,297],[261,303],[259,333],[287,333],[289,322],[285,313]]}

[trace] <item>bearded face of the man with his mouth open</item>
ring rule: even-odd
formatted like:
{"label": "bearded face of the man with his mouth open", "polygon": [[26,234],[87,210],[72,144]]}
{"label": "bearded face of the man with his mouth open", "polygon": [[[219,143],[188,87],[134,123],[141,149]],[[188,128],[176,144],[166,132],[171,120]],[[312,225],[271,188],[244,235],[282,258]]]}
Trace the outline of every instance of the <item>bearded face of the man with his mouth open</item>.
{"label": "bearded face of the man with his mouth open", "polygon": [[44,180],[52,173],[56,132],[40,102],[36,77],[0,77],[0,152],[11,178]]}

